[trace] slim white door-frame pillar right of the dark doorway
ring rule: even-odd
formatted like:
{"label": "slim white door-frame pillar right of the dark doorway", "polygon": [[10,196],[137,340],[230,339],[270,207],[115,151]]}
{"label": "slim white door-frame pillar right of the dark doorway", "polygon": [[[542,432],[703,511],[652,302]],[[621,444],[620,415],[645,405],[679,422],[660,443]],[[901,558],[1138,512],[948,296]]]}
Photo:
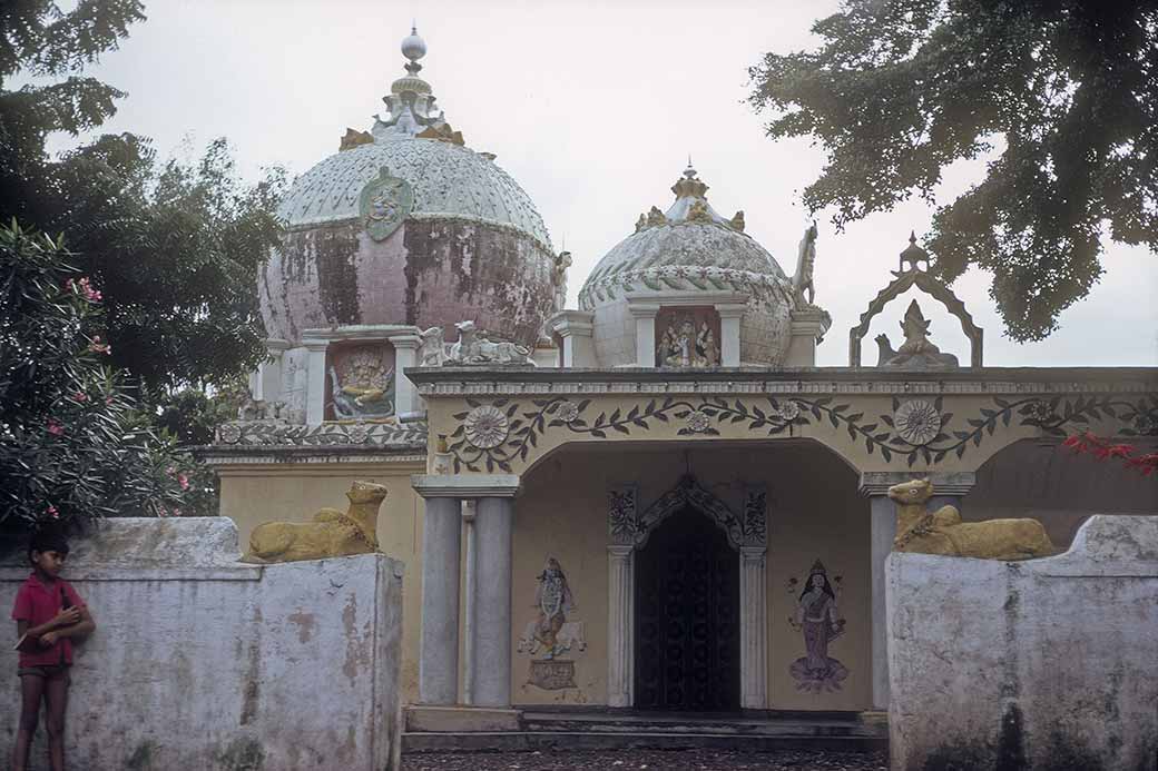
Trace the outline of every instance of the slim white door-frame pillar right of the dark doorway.
{"label": "slim white door-frame pillar right of the dark doorway", "polygon": [[740,548],[740,706],[768,708],[768,548]]}

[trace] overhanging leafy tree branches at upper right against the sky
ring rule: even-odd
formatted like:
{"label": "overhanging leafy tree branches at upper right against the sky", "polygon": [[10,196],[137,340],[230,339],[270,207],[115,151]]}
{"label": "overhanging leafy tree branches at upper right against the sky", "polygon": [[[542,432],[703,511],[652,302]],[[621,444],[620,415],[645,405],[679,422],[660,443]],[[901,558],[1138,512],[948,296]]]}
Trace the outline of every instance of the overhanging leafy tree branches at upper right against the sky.
{"label": "overhanging leafy tree branches at upper right against the sky", "polygon": [[1105,238],[1158,250],[1158,2],[844,0],[814,52],[769,53],[750,102],[774,138],[818,139],[804,192],[834,225],[999,149],[937,208],[926,244],[946,280],[970,264],[1017,340],[1042,339],[1089,294]]}

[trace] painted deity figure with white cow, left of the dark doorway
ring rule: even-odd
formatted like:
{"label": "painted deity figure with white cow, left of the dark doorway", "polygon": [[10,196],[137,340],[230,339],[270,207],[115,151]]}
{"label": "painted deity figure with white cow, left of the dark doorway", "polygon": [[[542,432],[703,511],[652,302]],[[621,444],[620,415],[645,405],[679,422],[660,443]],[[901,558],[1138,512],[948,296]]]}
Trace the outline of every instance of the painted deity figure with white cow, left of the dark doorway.
{"label": "painted deity figure with white cow, left of the dark doorway", "polygon": [[518,642],[519,653],[532,656],[527,684],[550,691],[577,688],[574,660],[560,656],[582,653],[587,640],[582,622],[567,621],[576,607],[567,577],[559,560],[548,557],[535,580],[537,617],[527,624]]}

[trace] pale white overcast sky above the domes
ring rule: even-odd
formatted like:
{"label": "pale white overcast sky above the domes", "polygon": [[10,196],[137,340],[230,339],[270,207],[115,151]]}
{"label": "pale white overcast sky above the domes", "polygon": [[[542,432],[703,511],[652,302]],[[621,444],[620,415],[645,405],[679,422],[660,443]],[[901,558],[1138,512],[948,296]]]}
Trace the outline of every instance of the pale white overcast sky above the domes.
{"label": "pale white overcast sky above the domes", "polygon": [[[428,49],[422,75],[447,119],[468,146],[498,155],[556,249],[565,242],[572,252],[574,307],[587,273],[639,213],[667,208],[689,153],[714,208],[742,208],[747,232],[792,272],[808,222],[799,191],[823,154],[807,140],[765,138],[764,118],[745,104],[747,68],[765,51],[814,46],[812,23],[835,9],[833,0],[157,0],[88,73],[129,93],[102,132],[152,137],[162,157],[185,138],[199,150],[225,135],[245,176],[271,164],[296,175],[335,153],[346,126],[368,128],[384,112],[380,97],[403,74],[398,43],[417,19]],[[945,201],[979,174],[976,164],[952,169]],[[816,301],[833,315],[818,364],[848,364],[849,328],[892,278],[909,230],[919,237],[931,215],[910,201],[841,234],[818,218]],[[1004,337],[989,277],[966,274],[954,289],[985,330],[985,364],[1158,365],[1158,257],[1109,244],[1104,265],[1061,329],[1028,345]],[[899,345],[908,298],[874,321],[865,364],[875,362],[878,332]],[[932,298],[921,304],[933,342],[967,362],[957,321]]]}

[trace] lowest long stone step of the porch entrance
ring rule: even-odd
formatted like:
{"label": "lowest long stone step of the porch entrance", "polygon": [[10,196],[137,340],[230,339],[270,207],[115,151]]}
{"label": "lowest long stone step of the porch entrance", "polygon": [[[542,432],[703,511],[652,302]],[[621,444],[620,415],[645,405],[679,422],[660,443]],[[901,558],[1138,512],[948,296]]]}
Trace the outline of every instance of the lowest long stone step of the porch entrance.
{"label": "lowest long stone step of the porch entrance", "polygon": [[710,732],[640,732],[622,730],[510,730],[463,733],[402,734],[403,752],[472,752],[530,750],[606,750],[606,749],[697,749],[717,748],[748,751],[790,749],[843,750],[849,752],[881,751],[888,748],[884,735],[852,734],[735,734]]}

